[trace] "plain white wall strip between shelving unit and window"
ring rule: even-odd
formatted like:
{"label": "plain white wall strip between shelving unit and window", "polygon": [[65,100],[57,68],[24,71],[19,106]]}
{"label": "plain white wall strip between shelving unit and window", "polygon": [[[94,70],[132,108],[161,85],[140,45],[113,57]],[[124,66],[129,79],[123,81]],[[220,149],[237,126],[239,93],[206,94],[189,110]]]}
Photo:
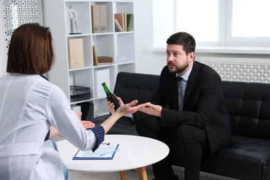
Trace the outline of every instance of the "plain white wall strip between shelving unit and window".
{"label": "plain white wall strip between shelving unit and window", "polygon": [[166,64],[166,53],[152,52],[152,0],[135,0],[136,72],[159,74]]}

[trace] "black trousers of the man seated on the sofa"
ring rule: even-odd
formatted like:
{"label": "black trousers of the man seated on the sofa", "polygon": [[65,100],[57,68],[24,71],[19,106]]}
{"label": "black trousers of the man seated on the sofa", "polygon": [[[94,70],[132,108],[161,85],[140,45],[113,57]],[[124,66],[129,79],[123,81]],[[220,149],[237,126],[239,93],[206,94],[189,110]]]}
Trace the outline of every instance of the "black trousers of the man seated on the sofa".
{"label": "black trousers of the man seated on the sofa", "polygon": [[[136,130],[140,136],[154,138],[165,144],[175,143],[185,166],[185,180],[199,179],[201,160],[209,152],[208,138],[204,129],[191,125],[162,127],[160,118],[152,116],[136,123]],[[154,163],[152,168],[155,179],[175,178],[170,156]]]}

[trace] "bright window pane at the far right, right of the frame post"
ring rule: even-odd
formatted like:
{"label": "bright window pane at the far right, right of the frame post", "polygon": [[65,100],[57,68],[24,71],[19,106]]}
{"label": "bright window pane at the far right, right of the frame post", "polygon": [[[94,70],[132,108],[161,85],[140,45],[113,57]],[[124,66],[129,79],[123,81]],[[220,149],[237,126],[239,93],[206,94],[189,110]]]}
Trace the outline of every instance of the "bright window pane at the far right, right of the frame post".
{"label": "bright window pane at the far right, right of the frame post", "polygon": [[228,44],[269,43],[269,7],[269,0],[229,1]]}

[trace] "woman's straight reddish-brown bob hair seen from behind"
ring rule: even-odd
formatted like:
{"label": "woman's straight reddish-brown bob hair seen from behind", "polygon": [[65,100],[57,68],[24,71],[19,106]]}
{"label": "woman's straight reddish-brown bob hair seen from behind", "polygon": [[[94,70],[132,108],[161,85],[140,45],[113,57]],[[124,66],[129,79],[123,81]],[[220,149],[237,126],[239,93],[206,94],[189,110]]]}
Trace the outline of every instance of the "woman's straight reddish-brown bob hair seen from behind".
{"label": "woman's straight reddish-brown bob hair seen from behind", "polygon": [[23,24],[10,39],[8,73],[43,74],[54,62],[51,32],[39,24]]}

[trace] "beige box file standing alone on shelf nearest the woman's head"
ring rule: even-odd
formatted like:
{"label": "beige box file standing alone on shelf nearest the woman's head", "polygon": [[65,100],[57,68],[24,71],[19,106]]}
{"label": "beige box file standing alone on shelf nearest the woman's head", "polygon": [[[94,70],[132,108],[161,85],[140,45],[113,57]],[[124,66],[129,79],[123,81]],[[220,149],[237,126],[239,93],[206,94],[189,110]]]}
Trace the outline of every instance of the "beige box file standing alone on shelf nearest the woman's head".
{"label": "beige box file standing alone on shelf nearest the woman's head", "polygon": [[83,39],[69,39],[69,69],[78,69],[84,66]]}

